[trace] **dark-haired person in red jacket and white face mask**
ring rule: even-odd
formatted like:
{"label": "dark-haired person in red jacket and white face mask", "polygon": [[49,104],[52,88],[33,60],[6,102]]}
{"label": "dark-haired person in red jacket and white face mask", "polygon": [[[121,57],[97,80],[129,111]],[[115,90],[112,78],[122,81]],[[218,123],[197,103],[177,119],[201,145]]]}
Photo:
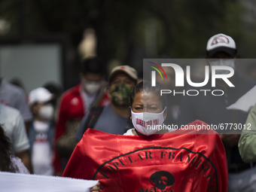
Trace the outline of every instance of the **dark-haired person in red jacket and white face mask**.
{"label": "dark-haired person in red jacket and white face mask", "polygon": [[105,92],[105,81],[103,81],[105,78],[104,69],[105,63],[99,57],[84,59],[79,74],[81,83],[67,90],[61,96],[57,109],[54,137],[53,167],[55,175],[62,175],[62,171],[69,160],[69,157],[63,158],[56,151],[60,136],[66,132],[67,128],[77,129],[81,119],[92,106],[102,106],[109,103],[108,95]]}

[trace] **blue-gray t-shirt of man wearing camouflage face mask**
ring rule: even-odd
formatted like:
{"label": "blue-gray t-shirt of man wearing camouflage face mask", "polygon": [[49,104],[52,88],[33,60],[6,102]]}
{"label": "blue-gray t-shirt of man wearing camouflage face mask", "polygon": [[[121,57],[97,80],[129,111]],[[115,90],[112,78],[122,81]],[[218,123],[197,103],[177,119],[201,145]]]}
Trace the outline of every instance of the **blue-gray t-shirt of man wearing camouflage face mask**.
{"label": "blue-gray t-shirt of man wearing camouflage face mask", "polygon": [[[84,116],[81,124],[78,128],[78,132],[76,133],[75,137],[77,139],[82,139],[84,135],[84,126],[85,122],[87,121],[88,113]],[[102,110],[102,113],[99,115],[98,120],[93,127],[94,130],[99,130],[105,133],[111,134],[120,134],[126,132],[126,123],[129,120],[129,117],[121,117],[119,114],[113,111],[111,105],[105,105]]]}

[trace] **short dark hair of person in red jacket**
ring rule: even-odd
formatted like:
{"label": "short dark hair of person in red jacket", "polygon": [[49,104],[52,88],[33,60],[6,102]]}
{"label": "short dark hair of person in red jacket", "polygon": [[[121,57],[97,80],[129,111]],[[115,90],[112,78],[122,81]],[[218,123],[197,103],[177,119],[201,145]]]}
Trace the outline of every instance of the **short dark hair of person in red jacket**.
{"label": "short dark hair of person in red jacket", "polygon": [[81,72],[86,75],[88,72],[105,75],[105,63],[97,56],[84,59],[81,62]]}

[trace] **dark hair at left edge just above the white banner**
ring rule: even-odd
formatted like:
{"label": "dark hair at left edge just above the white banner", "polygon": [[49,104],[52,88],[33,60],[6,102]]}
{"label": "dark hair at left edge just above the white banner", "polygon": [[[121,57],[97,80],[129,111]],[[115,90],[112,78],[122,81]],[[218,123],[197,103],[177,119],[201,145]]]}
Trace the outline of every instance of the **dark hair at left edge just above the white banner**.
{"label": "dark hair at left edge just above the white banner", "polygon": [[5,131],[0,124],[0,171],[2,172],[14,172],[11,169],[11,142],[8,136],[5,135]]}

